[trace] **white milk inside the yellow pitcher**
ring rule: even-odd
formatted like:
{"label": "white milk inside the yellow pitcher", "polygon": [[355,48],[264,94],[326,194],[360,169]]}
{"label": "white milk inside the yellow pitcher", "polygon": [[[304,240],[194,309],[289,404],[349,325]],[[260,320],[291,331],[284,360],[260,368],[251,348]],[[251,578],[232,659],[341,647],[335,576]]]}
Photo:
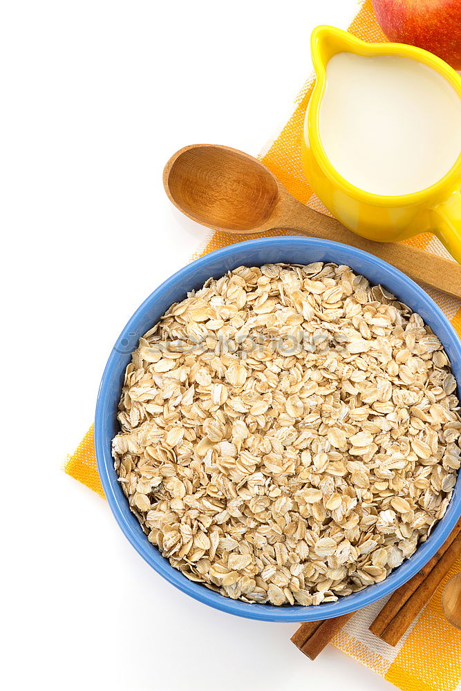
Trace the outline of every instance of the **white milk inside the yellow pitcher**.
{"label": "white milk inside the yellow pitcher", "polygon": [[326,77],[320,137],[346,180],[375,194],[408,194],[453,166],[461,98],[435,70],[405,57],[338,53]]}

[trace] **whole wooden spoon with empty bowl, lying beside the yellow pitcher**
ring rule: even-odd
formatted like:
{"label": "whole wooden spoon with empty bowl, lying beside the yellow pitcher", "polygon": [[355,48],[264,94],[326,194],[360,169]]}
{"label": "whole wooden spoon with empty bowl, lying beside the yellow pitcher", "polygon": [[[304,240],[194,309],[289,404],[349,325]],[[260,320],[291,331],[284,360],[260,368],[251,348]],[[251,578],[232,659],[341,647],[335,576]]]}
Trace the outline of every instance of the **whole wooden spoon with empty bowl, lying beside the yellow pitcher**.
{"label": "whole wooden spoon with empty bowl, lying beside the yellow pitcher", "polygon": [[297,201],[261,161],[228,146],[192,144],[164,168],[167,195],[183,214],[224,233],[299,231],[375,254],[415,281],[461,297],[461,266],[402,243],[375,243]]}

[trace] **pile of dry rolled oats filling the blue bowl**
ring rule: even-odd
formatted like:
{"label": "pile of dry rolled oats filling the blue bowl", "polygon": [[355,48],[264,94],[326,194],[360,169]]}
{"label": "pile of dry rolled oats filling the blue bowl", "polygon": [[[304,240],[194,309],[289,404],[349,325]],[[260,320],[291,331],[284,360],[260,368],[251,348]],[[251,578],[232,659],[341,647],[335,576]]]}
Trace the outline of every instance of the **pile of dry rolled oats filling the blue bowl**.
{"label": "pile of dry rolled oats filling the blue bowl", "polygon": [[318,605],[386,578],[444,514],[455,386],[421,317],[350,268],[239,267],[140,339],[115,469],[187,578]]}

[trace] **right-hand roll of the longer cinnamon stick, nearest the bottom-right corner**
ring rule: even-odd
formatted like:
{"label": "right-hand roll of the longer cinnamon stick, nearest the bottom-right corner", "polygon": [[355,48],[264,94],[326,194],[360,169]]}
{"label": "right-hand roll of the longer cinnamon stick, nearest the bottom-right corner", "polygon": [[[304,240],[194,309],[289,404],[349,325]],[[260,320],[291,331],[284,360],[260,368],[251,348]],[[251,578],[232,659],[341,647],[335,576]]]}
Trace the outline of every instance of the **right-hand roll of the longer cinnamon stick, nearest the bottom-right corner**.
{"label": "right-hand roll of the longer cinnamon stick, nearest the bottom-right corner", "polygon": [[453,562],[461,554],[461,533],[453,540],[442,558],[433,567],[431,573],[420,584],[420,587],[408,598],[402,609],[397,612],[391,623],[386,626],[380,638],[389,645],[397,645],[415,617],[426,605],[427,601],[437,590],[440,582],[449,572]]}

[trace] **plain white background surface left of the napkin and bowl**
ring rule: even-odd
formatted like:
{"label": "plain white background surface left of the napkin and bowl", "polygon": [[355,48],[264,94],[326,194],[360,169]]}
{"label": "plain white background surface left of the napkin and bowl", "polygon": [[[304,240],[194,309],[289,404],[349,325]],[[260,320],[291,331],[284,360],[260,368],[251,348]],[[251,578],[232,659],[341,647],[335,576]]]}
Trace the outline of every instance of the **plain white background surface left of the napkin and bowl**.
{"label": "plain white background surface left of the napkin and bowl", "polygon": [[355,9],[1,3],[4,689],[391,688],[332,647],[311,663],[294,625],[176,591],[61,470],[124,323],[203,243],[164,194],[164,163],[194,142],[258,153],[310,73],[310,30]]}

